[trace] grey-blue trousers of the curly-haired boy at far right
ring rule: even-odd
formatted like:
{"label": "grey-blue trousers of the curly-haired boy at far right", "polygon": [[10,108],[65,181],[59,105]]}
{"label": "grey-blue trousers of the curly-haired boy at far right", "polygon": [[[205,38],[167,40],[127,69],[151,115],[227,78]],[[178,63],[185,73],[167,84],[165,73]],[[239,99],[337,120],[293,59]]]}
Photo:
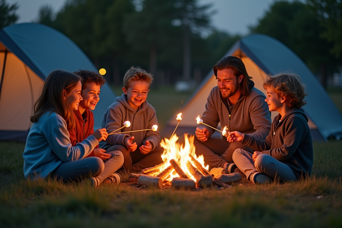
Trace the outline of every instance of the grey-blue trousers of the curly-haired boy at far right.
{"label": "grey-blue trousers of the curly-haired boy at far right", "polygon": [[247,179],[255,172],[264,173],[272,179],[282,181],[297,179],[290,166],[278,161],[272,156],[263,153],[255,159],[255,162],[252,156],[252,153],[243,149],[237,149],[233,153],[234,163],[246,175]]}

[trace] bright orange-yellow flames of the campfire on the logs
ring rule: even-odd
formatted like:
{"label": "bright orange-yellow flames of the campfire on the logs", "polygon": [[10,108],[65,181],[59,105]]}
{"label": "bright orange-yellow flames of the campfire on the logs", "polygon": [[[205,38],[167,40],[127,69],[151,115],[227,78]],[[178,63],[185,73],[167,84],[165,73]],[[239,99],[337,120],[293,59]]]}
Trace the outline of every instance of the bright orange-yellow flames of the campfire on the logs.
{"label": "bright orange-yellow flames of the campfire on the logs", "polygon": [[[160,142],[160,146],[164,148],[164,152],[161,155],[162,160],[165,162],[165,165],[163,167],[160,167],[160,170],[166,169],[168,166],[170,166],[170,160],[174,159],[175,161],[179,161],[180,167],[184,171],[184,173],[190,178],[193,179],[196,182],[196,179],[193,177],[193,175],[188,171],[186,167],[186,162],[190,161],[193,166],[195,166],[194,162],[189,157],[189,154],[192,155],[201,165],[208,170],[209,165],[206,167],[204,166],[204,157],[203,155],[200,155],[199,157],[195,154],[195,146],[194,146],[194,136],[191,135],[188,137],[187,134],[184,134],[185,144],[180,144],[177,142],[178,137],[176,134],[174,134],[170,139],[164,138]],[[177,173],[173,174],[171,172],[170,177],[167,180],[172,180],[174,177],[179,177]]]}

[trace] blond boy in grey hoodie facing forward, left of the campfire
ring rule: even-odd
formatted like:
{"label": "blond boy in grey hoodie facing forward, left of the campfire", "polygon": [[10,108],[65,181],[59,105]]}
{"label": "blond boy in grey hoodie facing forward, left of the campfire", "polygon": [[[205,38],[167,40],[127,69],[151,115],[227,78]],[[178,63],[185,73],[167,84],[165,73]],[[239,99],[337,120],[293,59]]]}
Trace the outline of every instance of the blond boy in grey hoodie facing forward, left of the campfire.
{"label": "blond boy in grey hoodie facing forward, left of the campfire", "polygon": [[[158,125],[156,110],[146,100],[152,80],[153,76],[140,67],[131,67],[125,73],[123,94],[115,98],[102,120],[102,127],[108,134],[121,128],[125,121],[130,121],[131,125],[117,132],[151,129],[153,125]],[[123,168],[140,172],[162,163],[163,148],[159,143],[159,130],[139,131],[108,135],[106,141],[100,142],[100,147],[107,152],[121,151]]]}

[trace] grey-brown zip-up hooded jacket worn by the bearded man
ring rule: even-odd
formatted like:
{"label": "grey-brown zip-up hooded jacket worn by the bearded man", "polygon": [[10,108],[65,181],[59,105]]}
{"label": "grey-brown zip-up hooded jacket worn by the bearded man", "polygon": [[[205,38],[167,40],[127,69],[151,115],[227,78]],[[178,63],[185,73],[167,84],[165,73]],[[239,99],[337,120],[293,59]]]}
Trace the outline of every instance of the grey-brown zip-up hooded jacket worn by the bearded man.
{"label": "grey-brown zip-up hooded jacket worn by the bearded man", "polygon": [[[215,86],[209,94],[206,110],[201,117],[203,123],[216,128],[220,122],[222,129],[227,126],[227,131],[239,131],[265,139],[271,129],[271,113],[265,102],[265,95],[253,86],[254,83],[250,81],[249,95],[241,95],[231,111],[226,105],[228,98],[223,98],[219,87]],[[215,131],[203,124],[199,127],[207,128],[209,137]]]}

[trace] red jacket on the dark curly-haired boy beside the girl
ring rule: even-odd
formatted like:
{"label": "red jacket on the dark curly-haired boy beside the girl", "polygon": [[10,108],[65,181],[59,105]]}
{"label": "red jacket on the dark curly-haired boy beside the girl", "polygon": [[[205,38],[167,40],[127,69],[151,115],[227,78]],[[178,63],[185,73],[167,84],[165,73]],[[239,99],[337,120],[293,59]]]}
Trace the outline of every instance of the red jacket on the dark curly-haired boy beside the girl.
{"label": "red jacket on the dark curly-haired boy beside the girl", "polygon": [[[94,133],[94,115],[89,109],[84,111],[84,118],[78,109],[77,111],[74,111],[74,115],[76,126],[74,129],[69,130],[70,142],[72,146],[76,146],[77,143],[82,142],[83,139]],[[98,145],[95,148],[98,148]],[[94,157],[94,155],[95,153],[93,150],[87,157]]]}

